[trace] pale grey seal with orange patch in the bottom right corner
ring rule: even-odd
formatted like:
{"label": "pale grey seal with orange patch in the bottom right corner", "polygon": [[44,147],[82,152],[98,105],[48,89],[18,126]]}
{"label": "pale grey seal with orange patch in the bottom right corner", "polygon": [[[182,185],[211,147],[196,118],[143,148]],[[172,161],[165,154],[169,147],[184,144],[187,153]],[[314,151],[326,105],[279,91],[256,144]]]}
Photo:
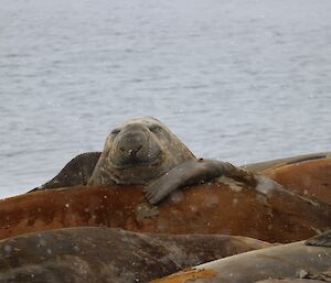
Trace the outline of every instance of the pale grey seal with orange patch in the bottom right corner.
{"label": "pale grey seal with orange patch in the bottom right corner", "polygon": [[308,241],[281,244],[207,262],[152,283],[254,283],[330,271],[331,230]]}

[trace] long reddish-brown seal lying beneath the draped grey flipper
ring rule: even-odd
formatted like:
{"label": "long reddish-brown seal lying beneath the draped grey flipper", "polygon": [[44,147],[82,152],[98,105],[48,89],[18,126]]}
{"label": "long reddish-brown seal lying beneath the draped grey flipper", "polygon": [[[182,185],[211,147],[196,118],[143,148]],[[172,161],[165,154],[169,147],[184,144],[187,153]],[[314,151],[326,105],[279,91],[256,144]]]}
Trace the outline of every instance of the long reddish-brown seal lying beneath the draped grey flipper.
{"label": "long reddish-brown seal lying beneath the draped grey flipper", "polygon": [[73,226],[291,242],[329,229],[331,206],[245,171],[177,191],[157,207],[137,185],[49,189],[0,202],[0,238]]}

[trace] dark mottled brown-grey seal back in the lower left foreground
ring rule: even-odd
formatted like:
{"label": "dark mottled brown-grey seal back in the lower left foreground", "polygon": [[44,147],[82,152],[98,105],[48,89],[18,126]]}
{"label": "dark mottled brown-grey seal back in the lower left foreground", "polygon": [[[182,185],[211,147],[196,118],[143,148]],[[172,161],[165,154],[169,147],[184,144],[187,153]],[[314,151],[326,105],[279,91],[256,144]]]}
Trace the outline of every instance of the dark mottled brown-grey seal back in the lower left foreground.
{"label": "dark mottled brown-grey seal back in the lower left foreground", "polygon": [[151,235],[75,227],[0,241],[0,283],[143,283],[270,247],[245,237]]}

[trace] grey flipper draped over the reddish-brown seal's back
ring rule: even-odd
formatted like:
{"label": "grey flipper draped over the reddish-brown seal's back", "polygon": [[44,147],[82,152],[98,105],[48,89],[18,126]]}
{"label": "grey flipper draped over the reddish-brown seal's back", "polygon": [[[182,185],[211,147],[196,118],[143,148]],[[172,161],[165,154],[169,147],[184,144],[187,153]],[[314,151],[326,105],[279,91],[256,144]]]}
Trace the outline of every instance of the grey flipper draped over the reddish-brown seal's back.
{"label": "grey flipper draped over the reddish-brown seal's back", "polygon": [[154,205],[180,187],[209,182],[235,170],[226,162],[193,159],[170,170],[146,186],[143,192],[148,202]]}

